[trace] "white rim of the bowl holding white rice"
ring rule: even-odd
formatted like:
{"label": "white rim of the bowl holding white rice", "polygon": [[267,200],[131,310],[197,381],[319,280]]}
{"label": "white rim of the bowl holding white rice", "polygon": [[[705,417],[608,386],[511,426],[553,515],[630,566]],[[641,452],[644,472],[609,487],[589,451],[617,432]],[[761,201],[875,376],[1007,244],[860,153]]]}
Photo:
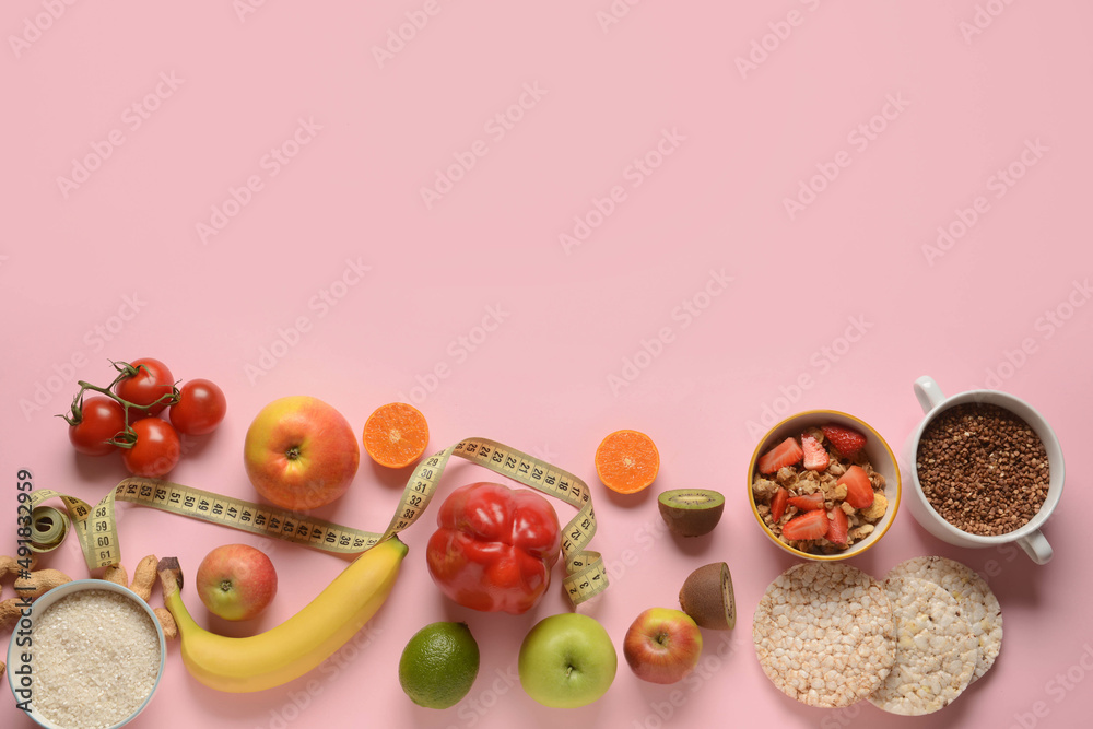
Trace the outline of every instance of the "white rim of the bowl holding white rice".
{"label": "white rim of the bowl holding white rice", "polygon": [[[160,687],[160,680],[163,678],[163,667],[167,659],[167,642],[163,635],[163,627],[160,625],[158,619],[156,619],[155,613],[152,609],[144,602],[136,592],[127,587],[121,587],[116,583],[110,583],[105,579],[77,579],[71,583],[64,583],[63,585],[58,585],[45,595],[42,595],[31,605],[30,615],[22,618],[20,623],[15,625],[15,630],[12,632],[11,643],[8,645],[8,685],[11,686],[12,694],[15,696],[15,703],[21,703],[26,701],[25,692],[30,692],[31,696],[31,710],[27,712],[27,716],[34,719],[38,725],[45,727],[46,729],[68,729],[67,727],[54,724],[49,719],[42,716],[38,709],[34,706],[34,662],[26,662],[23,660],[23,655],[26,650],[24,646],[20,646],[21,631],[24,631],[23,636],[25,636],[26,621],[30,621],[30,633],[33,638],[34,620],[36,616],[45,612],[46,608],[57,602],[63,597],[72,595],[73,592],[80,592],[82,590],[104,590],[108,592],[117,592],[134,603],[139,604],[144,612],[148,613],[149,619],[152,621],[152,625],[155,626],[156,635],[160,638],[160,668],[156,671],[155,683],[152,685],[152,691],[149,692],[148,696],[141,703],[141,705],[131,715],[122,719],[121,721],[110,725],[108,729],[118,729],[118,727],[124,727],[125,725],[137,718],[148,703],[152,701],[152,696],[155,695],[155,690]],[[30,686],[24,685],[27,682],[27,675],[25,672],[30,669]],[[24,692],[22,695],[20,692]]]}

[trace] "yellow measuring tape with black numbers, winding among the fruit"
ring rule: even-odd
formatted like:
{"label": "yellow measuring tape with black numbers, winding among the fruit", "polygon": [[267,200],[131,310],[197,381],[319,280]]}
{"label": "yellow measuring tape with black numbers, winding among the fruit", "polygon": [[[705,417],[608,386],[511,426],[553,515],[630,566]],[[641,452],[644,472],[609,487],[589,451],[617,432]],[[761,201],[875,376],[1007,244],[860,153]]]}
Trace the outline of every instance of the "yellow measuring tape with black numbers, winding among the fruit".
{"label": "yellow measuring tape with black numbers, winding among the fruit", "polygon": [[[231,498],[169,481],[131,477],[121,481],[94,507],[86,502],[49,489],[31,493],[31,549],[48,552],[56,549],[71,527],[74,528],[90,569],[118,564],[117,502],[202,519],[242,529],[255,534],[282,539],[334,554],[360,554],[379,542],[410,528],[425,512],[439,486],[448,460],[457,456],[508,477],[539,492],[559,498],[577,509],[577,516],[562,532],[562,562],[566,596],[577,605],[602,592],[608,586],[603,560],[587,550],[596,533],[596,515],[588,485],[568,471],[533,458],[515,448],[487,438],[467,438],[422,460],[414,469],[399,502],[398,510],[383,533],[362,531],[265,504]],[[64,513],[40,506],[60,498]]]}

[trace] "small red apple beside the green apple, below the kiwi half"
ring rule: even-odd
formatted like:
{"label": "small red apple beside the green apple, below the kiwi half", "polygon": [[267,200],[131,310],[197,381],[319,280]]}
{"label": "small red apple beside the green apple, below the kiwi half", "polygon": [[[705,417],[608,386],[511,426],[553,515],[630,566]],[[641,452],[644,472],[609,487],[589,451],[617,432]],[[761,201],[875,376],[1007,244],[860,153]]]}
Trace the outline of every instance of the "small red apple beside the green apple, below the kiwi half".
{"label": "small red apple beside the green apple, below the kiwi half", "polygon": [[622,651],[643,681],[675,683],[698,665],[702,632],[685,612],[650,608],[626,631]]}

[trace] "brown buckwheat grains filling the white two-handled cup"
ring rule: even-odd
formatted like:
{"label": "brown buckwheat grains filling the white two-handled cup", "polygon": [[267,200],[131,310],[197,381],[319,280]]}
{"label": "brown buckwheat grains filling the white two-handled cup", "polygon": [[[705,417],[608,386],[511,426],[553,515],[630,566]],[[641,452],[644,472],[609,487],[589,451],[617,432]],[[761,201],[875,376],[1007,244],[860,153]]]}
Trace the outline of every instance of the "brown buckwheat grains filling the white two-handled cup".
{"label": "brown buckwheat grains filling the white two-handled cup", "polygon": [[963,403],[938,414],[922,432],[916,461],[930,506],[971,534],[1020,529],[1047,498],[1044,443],[1025,421],[995,404]]}

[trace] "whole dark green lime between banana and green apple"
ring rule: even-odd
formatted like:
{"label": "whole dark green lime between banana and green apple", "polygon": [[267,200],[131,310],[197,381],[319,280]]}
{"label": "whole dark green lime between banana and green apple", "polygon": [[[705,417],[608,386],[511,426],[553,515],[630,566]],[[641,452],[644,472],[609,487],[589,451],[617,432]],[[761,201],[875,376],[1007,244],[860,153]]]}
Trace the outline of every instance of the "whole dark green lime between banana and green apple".
{"label": "whole dark green lime between banana and green apple", "polygon": [[478,667],[478,643],[467,623],[431,623],[402,649],[399,683],[414,704],[448,708],[471,690]]}

